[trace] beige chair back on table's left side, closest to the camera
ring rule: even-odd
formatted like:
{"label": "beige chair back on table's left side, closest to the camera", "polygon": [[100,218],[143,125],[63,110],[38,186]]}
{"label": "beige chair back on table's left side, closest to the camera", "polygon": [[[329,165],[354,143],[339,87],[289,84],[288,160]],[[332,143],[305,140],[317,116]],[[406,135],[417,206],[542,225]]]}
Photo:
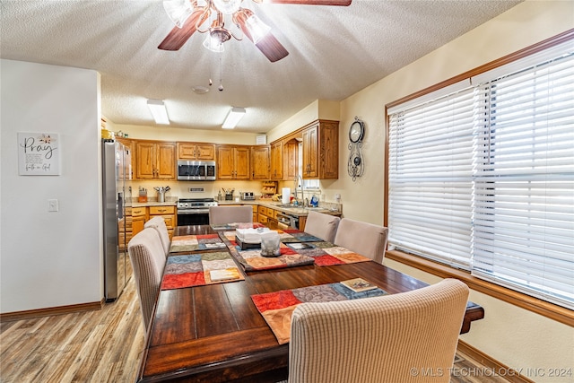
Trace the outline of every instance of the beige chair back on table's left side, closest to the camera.
{"label": "beige chair back on table's left side, closest to the camera", "polygon": [[147,331],[152,320],[153,306],[161,287],[161,275],[166,257],[160,235],[153,228],[144,228],[127,244],[127,252],[134,268],[135,285],[140,299],[143,326]]}

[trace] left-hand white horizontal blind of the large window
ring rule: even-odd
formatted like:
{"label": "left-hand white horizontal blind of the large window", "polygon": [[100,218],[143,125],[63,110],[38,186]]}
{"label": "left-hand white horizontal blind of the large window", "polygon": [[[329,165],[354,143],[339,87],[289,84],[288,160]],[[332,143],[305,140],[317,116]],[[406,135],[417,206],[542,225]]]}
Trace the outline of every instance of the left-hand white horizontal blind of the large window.
{"label": "left-hand white horizontal blind of the large window", "polygon": [[468,269],[473,119],[470,88],[390,116],[390,245]]}

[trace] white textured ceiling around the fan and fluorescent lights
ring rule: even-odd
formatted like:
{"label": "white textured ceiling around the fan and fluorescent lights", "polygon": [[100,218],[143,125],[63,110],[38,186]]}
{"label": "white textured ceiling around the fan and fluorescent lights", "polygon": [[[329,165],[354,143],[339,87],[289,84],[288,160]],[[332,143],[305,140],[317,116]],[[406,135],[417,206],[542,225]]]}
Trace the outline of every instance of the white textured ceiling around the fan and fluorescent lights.
{"label": "white textured ceiling around the fan and fluorescent lights", "polygon": [[[161,0],[3,0],[0,56],[97,70],[102,113],[117,124],[153,125],[145,101],[161,99],[171,126],[219,130],[235,106],[248,109],[237,131],[264,133],[314,100],[344,100],[520,1],[243,0],[289,51],[271,63],[248,39],[231,39],[222,54],[203,48],[199,33],[178,51],[158,49],[173,27]],[[210,91],[196,94],[196,85]]]}

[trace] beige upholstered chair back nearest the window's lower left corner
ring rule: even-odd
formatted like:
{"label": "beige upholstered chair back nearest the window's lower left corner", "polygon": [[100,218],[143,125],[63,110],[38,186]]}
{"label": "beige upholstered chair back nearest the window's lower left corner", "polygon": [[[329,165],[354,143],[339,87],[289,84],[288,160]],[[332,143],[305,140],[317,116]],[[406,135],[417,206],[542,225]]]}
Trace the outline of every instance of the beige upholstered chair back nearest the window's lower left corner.
{"label": "beige upholstered chair back nearest the window's lower left corner", "polygon": [[386,227],[343,218],[335,234],[335,245],[382,263],[387,248],[387,236]]}

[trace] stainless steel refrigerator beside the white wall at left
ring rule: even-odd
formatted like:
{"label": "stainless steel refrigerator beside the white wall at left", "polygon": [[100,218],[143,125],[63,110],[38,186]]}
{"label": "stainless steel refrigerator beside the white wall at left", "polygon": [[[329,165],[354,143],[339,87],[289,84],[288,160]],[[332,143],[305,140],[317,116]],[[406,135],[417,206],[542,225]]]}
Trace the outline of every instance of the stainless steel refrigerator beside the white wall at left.
{"label": "stainless steel refrigerator beside the white wall at left", "polygon": [[126,244],[126,181],[131,178],[131,153],[125,145],[102,140],[104,292],[113,301],[126,287],[131,273]]}

